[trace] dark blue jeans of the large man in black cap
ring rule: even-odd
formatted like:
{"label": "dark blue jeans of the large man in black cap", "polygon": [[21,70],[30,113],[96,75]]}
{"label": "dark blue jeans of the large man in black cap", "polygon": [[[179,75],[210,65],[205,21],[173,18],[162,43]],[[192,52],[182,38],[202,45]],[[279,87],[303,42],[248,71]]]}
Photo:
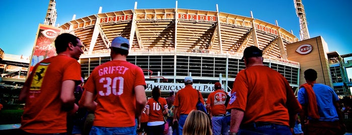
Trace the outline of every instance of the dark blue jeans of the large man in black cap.
{"label": "dark blue jeans of the large man in black cap", "polygon": [[291,135],[292,132],[289,126],[286,125],[264,125],[264,126],[254,126],[251,128],[241,128],[237,134],[288,134]]}

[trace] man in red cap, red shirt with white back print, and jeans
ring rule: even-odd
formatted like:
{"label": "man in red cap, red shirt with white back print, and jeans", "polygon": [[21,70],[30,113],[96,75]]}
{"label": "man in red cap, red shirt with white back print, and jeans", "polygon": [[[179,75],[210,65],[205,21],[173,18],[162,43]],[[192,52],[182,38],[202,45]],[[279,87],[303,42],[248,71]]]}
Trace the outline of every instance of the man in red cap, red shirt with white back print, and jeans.
{"label": "man in red cap, red shirt with white back print, and jeans", "polygon": [[229,133],[229,125],[226,121],[226,98],[227,94],[221,89],[221,84],[214,84],[215,91],[208,95],[206,100],[206,110],[212,114],[212,130],[213,134],[227,135]]}

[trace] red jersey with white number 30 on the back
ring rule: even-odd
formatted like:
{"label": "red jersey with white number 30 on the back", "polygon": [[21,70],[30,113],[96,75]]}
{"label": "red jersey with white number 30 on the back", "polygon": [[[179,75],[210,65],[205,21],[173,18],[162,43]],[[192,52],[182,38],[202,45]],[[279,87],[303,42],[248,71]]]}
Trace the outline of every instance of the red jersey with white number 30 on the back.
{"label": "red jersey with white number 30 on the back", "polygon": [[134,87],[146,88],[140,67],[124,60],[112,60],[97,66],[84,89],[96,94],[94,126],[129,127],[135,125]]}

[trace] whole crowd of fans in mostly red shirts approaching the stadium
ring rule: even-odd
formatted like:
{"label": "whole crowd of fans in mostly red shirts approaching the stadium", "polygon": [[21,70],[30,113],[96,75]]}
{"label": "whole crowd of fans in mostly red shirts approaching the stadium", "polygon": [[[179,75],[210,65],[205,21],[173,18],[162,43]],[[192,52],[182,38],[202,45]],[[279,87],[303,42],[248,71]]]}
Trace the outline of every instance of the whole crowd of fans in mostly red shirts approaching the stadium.
{"label": "whole crowd of fans in mostly red shirts approaching the stadium", "polygon": [[[343,133],[339,99],[316,82],[315,70],[304,72],[307,83],[297,99],[285,77],[263,64],[262,50],[255,46],[245,48],[246,69],[238,73],[231,93],[217,82],[206,102],[192,87],[192,77],[185,77],[185,87],[176,94],[170,91],[165,99],[154,87],[148,99],[144,73],[126,60],[130,45],[121,36],[111,42],[111,61],[83,81],[77,61],[82,47],[77,36],[60,34],[57,56],[34,66],[19,96],[25,103],[22,134]],[[196,109],[199,102],[206,110]]]}

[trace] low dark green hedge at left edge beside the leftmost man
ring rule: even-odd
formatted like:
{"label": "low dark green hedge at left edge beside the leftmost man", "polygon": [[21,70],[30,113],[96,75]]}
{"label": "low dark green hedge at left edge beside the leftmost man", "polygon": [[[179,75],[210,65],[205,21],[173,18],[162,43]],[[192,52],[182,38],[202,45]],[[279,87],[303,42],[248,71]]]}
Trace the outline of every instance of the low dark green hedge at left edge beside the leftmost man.
{"label": "low dark green hedge at left edge beside the leftmost man", "polygon": [[23,110],[0,110],[0,124],[18,124],[21,123]]}

